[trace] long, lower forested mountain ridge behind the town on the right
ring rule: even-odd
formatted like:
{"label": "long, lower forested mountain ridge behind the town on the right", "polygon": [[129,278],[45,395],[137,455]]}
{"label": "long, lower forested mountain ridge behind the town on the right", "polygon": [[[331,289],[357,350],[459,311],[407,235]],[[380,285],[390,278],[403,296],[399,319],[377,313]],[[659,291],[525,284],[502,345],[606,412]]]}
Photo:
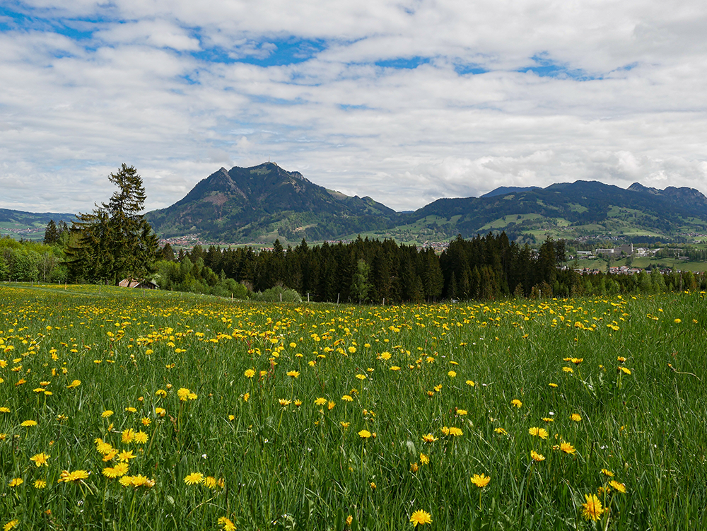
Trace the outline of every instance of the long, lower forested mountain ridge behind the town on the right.
{"label": "long, lower forested mountain ridge behind the town on the right", "polygon": [[[496,191],[494,191],[496,192]],[[707,197],[696,189],[628,189],[597,181],[563,182],[463,199],[438,199],[404,216],[408,226],[445,235],[504,230],[511,235],[578,238],[707,231]]]}

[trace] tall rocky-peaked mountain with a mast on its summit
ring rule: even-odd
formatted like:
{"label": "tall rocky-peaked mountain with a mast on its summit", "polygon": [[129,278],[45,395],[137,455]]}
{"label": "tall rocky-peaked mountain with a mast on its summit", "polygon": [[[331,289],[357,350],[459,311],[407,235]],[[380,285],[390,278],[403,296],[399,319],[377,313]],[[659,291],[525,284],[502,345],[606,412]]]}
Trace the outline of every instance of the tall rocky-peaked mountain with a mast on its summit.
{"label": "tall rocky-peaked mountain with a mast on its summit", "polygon": [[146,218],[163,237],[199,234],[227,243],[327,240],[385,230],[397,213],[370,197],[349,197],[275,163],[221,168],[184,199]]}

